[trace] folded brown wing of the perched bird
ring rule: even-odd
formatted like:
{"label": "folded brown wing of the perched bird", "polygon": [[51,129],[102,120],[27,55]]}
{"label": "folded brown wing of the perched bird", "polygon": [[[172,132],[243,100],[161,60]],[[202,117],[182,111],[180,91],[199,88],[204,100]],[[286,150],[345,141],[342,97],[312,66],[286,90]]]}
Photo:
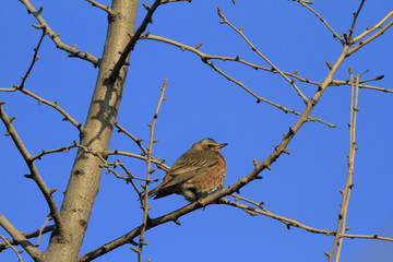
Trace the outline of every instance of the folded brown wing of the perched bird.
{"label": "folded brown wing of the perched bird", "polygon": [[168,182],[163,184],[159,190],[184,182],[199,174],[203,174],[217,163],[218,156],[212,151],[199,151],[193,154],[184,154],[175,162],[166,174],[170,179],[168,179]]}

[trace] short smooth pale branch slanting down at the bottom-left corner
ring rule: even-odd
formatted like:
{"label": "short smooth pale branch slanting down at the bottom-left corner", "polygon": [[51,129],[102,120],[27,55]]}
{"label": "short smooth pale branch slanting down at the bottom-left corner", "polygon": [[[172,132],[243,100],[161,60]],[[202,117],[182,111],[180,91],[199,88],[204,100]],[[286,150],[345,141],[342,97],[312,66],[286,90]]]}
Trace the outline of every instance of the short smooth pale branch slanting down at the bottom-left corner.
{"label": "short smooth pale branch slanting down at the bottom-left corner", "polygon": [[43,253],[34,247],[2,214],[0,214],[0,226],[22,246],[24,250],[35,260],[40,261]]}

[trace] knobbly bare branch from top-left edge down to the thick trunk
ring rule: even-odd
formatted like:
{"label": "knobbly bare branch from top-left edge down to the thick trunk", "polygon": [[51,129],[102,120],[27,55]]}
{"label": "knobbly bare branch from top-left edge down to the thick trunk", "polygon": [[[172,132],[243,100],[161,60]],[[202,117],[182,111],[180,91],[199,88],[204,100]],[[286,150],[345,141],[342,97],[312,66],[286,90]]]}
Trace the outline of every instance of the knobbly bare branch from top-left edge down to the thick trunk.
{"label": "knobbly bare branch from top-left edge down to the thick trunk", "polygon": [[90,61],[94,64],[94,67],[97,67],[99,63],[99,59],[92,56],[91,53],[88,53],[87,51],[80,51],[76,49],[76,45],[74,45],[73,47],[66,45],[64,43],[62,43],[59,38],[59,34],[56,34],[50,27],[49,25],[45,22],[45,20],[43,19],[43,16],[40,15],[43,8],[40,8],[38,11],[34,9],[34,7],[31,4],[31,2],[28,0],[20,0],[20,2],[22,2],[28,10],[29,13],[32,13],[34,15],[34,17],[36,17],[36,20],[39,22],[40,25],[35,25],[34,27],[37,29],[43,29],[45,31],[46,34],[48,34],[50,36],[50,38],[52,39],[52,41],[56,44],[57,48],[60,48],[67,52],[69,52],[69,57],[78,57],[81,58],[83,60]]}

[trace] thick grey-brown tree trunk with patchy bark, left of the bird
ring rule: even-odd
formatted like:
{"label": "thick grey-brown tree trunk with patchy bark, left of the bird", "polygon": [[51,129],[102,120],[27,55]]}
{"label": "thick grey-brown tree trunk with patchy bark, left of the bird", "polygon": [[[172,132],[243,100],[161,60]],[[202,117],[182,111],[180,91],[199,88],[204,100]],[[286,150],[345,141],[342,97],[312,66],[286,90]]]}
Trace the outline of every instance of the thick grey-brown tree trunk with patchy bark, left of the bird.
{"label": "thick grey-brown tree trunk with patchy bark, left of the bird", "polygon": [[[114,0],[107,38],[81,144],[94,152],[108,148],[124,86],[127,66],[117,79],[110,70],[134,32],[139,0]],[[127,59],[128,61],[128,59]],[[105,157],[105,156],[104,156]],[[86,233],[95,198],[99,190],[103,163],[98,157],[79,150],[66,190],[60,215],[66,229],[55,228],[44,261],[75,261]]]}

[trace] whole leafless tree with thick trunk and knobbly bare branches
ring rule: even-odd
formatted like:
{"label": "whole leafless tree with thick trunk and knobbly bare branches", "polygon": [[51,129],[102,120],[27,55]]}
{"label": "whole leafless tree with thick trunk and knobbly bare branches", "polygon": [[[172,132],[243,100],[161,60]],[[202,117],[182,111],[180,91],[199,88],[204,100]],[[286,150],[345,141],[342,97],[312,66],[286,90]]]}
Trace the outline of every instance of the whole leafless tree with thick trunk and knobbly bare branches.
{"label": "whole leafless tree with thick trunk and knobbly bare branches", "polygon": [[[353,16],[352,25],[347,33],[340,34],[336,29],[331,26],[327,21],[322,17],[314,9],[312,9],[312,1],[305,0],[294,0],[297,4],[300,4],[307,9],[312,14],[323,23],[323,25],[333,34],[333,37],[341,44],[342,51],[337,53],[337,59],[335,61],[326,61],[329,68],[329,73],[325,74],[323,81],[319,82],[311,80],[307,76],[299,75],[297,71],[295,72],[285,72],[281,70],[273,61],[271,61],[267,56],[264,55],[246,35],[242,27],[236,25],[235,22],[231,22],[224,12],[218,8],[218,17],[221,19],[219,23],[224,24],[233,31],[234,34],[237,34],[245,44],[247,44],[252,51],[264,61],[266,66],[260,66],[257,63],[249,62],[243,60],[239,56],[236,57],[224,57],[216,55],[209,55],[200,50],[202,45],[198,44],[196,46],[190,46],[183,43],[179,43],[163,36],[156,36],[150,34],[147,27],[153,20],[153,14],[164,4],[188,4],[182,2],[191,2],[184,0],[155,0],[150,7],[143,3],[145,10],[145,16],[143,21],[135,25],[135,17],[139,1],[138,0],[112,0],[111,7],[106,7],[102,3],[98,3],[94,0],[86,0],[95,8],[98,8],[105,11],[108,15],[108,31],[105,41],[105,47],[103,56],[97,58],[91,55],[87,51],[81,51],[75,46],[69,46],[64,44],[59,35],[56,33],[56,28],[52,28],[49,23],[46,22],[43,14],[43,8],[36,9],[28,0],[20,0],[20,2],[27,9],[28,13],[33,15],[37,24],[34,25],[35,28],[41,32],[41,36],[37,46],[34,49],[33,60],[27,68],[26,73],[22,78],[21,83],[15,84],[11,87],[1,87],[1,93],[22,93],[26,95],[29,99],[38,102],[38,104],[45,104],[51,107],[53,110],[57,110],[63,116],[63,120],[70,122],[75,130],[80,139],[74,140],[73,143],[64,145],[62,147],[52,148],[52,150],[43,150],[39,154],[32,154],[31,148],[23,143],[23,139],[19,135],[19,130],[13,124],[15,117],[9,117],[7,114],[5,100],[0,102],[0,118],[5,128],[5,135],[11,139],[16,146],[17,151],[22,155],[25,165],[27,166],[29,174],[25,175],[26,178],[32,179],[41,194],[44,195],[46,203],[49,207],[49,217],[38,230],[32,233],[22,233],[16,228],[11,222],[9,222],[3,214],[0,214],[0,225],[9,234],[9,236],[0,235],[3,242],[0,243],[0,251],[5,249],[13,250],[15,257],[20,261],[21,251],[17,250],[17,246],[21,246],[34,261],[91,261],[105,253],[108,253],[123,245],[131,243],[131,249],[136,252],[138,261],[142,260],[143,247],[146,245],[145,231],[153,229],[157,226],[160,226],[167,222],[174,222],[180,224],[178,221],[179,217],[184,216],[186,214],[192,213],[196,210],[204,209],[207,205],[229,205],[241,211],[247,212],[250,215],[264,215],[272,217],[283,224],[288,228],[298,227],[313,234],[322,234],[326,236],[333,236],[333,243],[330,252],[326,252],[329,261],[338,261],[341,255],[341,250],[343,247],[343,241],[345,238],[369,238],[369,239],[379,239],[393,241],[393,238],[382,237],[379,235],[350,235],[347,234],[347,210],[349,196],[353,188],[353,174],[354,174],[354,162],[355,153],[357,150],[356,140],[355,140],[355,130],[356,130],[356,120],[358,111],[358,93],[359,88],[372,90],[376,92],[385,92],[393,93],[392,90],[378,87],[370,85],[369,82],[378,81],[383,76],[374,76],[371,79],[365,79],[364,73],[354,73],[354,70],[349,68],[349,76],[347,80],[336,80],[334,79],[335,73],[344,63],[344,61],[350,57],[358,55],[357,51],[361,48],[366,48],[368,44],[373,41],[377,38],[380,38],[383,33],[385,33],[393,24],[393,11],[390,11],[384,17],[381,17],[380,22],[368,27],[362,33],[355,35],[355,27],[358,17],[361,15],[361,10],[365,3],[365,0],[360,1],[360,4]],[[235,0],[233,1],[236,2]],[[193,4],[192,2],[190,4]],[[136,28],[136,29],[135,29]],[[131,32],[134,32],[131,34]],[[39,48],[43,44],[43,39],[49,37],[57,48],[64,50],[69,53],[70,57],[76,57],[85,60],[86,62],[92,63],[98,69],[97,80],[93,93],[93,98],[90,104],[90,109],[87,112],[87,118],[85,122],[81,123],[75,120],[71,114],[63,109],[57,102],[50,102],[44,96],[40,96],[28,88],[26,88],[26,80],[32,73],[32,69],[36,66],[36,62],[39,58]],[[168,44],[174,47],[178,47],[183,51],[192,52],[199,56],[204,64],[213,69],[217,74],[224,76],[230,82],[238,85],[240,88],[248,92],[257,103],[266,103],[286,114],[293,114],[297,117],[297,120],[294,124],[289,127],[288,130],[285,130],[284,136],[278,145],[275,146],[275,150],[263,160],[253,159],[254,168],[248,175],[239,178],[238,181],[219,192],[210,195],[204,199],[200,199],[196,202],[190,203],[181,209],[172,211],[168,214],[164,214],[159,217],[151,218],[148,212],[151,206],[148,205],[147,196],[143,196],[148,191],[150,184],[157,179],[153,179],[151,175],[158,169],[168,170],[169,167],[165,165],[164,160],[153,155],[154,143],[157,142],[154,136],[156,120],[159,114],[159,108],[162,103],[165,100],[165,91],[168,85],[167,80],[163,80],[163,85],[160,88],[160,97],[157,102],[156,109],[152,109],[152,122],[150,123],[151,134],[148,138],[147,146],[144,146],[142,139],[134,136],[130,131],[128,131],[122,123],[119,123],[118,111],[120,102],[122,99],[122,93],[124,88],[124,82],[127,79],[127,72],[130,63],[130,53],[133,52],[135,45],[139,41],[154,40],[164,44]],[[388,48],[386,48],[388,49]],[[279,105],[273,100],[266,99],[258,94],[252,87],[247,86],[240,80],[235,79],[229,75],[225,70],[221,69],[217,66],[219,61],[231,61],[234,63],[240,64],[246,68],[255,69],[260,71],[270,72],[275,75],[279,75],[291,88],[295,91],[296,95],[303,104],[303,108],[299,111],[289,108],[287,106]],[[169,80],[170,81],[170,80]],[[302,85],[313,85],[315,86],[315,92],[312,96],[305,95]],[[261,178],[261,172],[265,169],[271,169],[273,163],[275,163],[282,154],[289,154],[287,151],[288,144],[296,136],[297,132],[301,127],[309,121],[319,122],[326,127],[334,128],[335,124],[329,123],[325,120],[318,118],[312,115],[312,109],[320,102],[321,97],[332,86],[350,86],[352,87],[352,104],[350,104],[350,118],[349,118],[349,155],[348,155],[348,172],[344,190],[342,190],[342,204],[341,211],[338,214],[337,227],[335,230],[327,229],[318,229],[300,223],[296,219],[287,218],[267,211],[261,202],[247,199],[237,192],[243,187],[247,187],[252,181]],[[138,145],[140,152],[124,152],[119,150],[110,150],[109,142],[112,136],[114,129],[117,129],[119,132],[126,134],[131,141]],[[67,184],[67,190],[64,191],[63,199],[61,203],[56,201],[53,193],[57,189],[50,189],[47,183],[44,181],[43,176],[39,172],[37,167],[37,160],[44,158],[49,154],[69,152],[72,148],[78,150],[78,154],[74,159],[73,168],[69,176],[69,181]],[[3,152],[7,148],[1,148]],[[131,172],[131,168],[122,163],[119,159],[112,160],[112,158],[118,156],[126,156],[131,158],[141,159],[146,163],[146,176],[136,177]],[[154,167],[155,166],[155,167]],[[118,168],[118,169],[115,169]],[[120,169],[120,171],[119,171]],[[96,195],[99,190],[99,182],[102,179],[103,170],[110,172],[116,176],[118,179],[124,180],[127,183],[130,183],[133,187],[133,190],[136,192],[136,199],[140,199],[140,204],[143,210],[143,216],[141,217],[140,225],[134,225],[135,227],[128,231],[127,234],[119,236],[118,238],[103,243],[100,247],[91,250],[87,253],[80,254],[81,246],[84,240],[84,236],[90,223],[92,209],[96,200]],[[4,174],[2,176],[8,176]],[[15,186],[16,187],[16,186]],[[225,196],[231,196],[233,200],[228,200]],[[51,225],[47,224],[52,223]],[[39,245],[39,239],[44,234],[50,233],[50,240],[48,246],[45,248],[45,251],[40,251],[37,248]],[[31,239],[37,238],[37,245],[32,243]],[[135,240],[138,239],[138,240]]]}

